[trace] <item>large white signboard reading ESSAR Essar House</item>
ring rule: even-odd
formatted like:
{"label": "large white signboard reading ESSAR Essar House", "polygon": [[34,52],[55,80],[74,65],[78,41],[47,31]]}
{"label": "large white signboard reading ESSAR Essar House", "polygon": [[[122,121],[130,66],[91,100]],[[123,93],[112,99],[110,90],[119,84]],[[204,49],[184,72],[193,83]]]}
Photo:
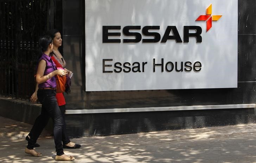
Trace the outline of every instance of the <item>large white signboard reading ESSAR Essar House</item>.
{"label": "large white signboard reading ESSAR Essar House", "polygon": [[237,87],[237,0],[85,0],[86,91]]}

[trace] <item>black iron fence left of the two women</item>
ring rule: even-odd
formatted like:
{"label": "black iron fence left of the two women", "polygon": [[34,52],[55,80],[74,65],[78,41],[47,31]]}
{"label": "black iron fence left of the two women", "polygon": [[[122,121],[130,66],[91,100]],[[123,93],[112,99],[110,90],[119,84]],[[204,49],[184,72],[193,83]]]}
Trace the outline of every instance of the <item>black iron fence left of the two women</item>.
{"label": "black iron fence left of the two women", "polygon": [[54,6],[51,0],[0,0],[0,95],[30,98],[37,41],[54,26]]}

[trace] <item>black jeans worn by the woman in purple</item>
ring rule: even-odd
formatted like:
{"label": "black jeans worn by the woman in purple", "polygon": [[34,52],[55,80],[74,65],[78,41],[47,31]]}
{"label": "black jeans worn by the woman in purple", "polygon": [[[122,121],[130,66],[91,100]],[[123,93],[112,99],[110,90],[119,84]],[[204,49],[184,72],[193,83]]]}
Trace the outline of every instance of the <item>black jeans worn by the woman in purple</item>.
{"label": "black jeans worn by the woman in purple", "polygon": [[53,135],[57,155],[63,155],[62,148],[62,129],[64,126],[64,119],[60,112],[57,100],[56,100],[55,90],[38,90],[37,97],[42,104],[41,114],[37,117],[30,134],[30,140],[28,141],[27,148],[33,149],[34,144],[37,142],[39,135],[46,126],[49,116],[53,120]]}

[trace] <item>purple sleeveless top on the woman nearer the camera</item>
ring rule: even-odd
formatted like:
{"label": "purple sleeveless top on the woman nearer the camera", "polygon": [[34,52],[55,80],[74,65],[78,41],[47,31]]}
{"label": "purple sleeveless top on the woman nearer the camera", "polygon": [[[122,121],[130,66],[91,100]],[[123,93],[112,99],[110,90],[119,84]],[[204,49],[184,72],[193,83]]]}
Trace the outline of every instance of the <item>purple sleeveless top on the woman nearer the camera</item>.
{"label": "purple sleeveless top on the woman nearer the camera", "polygon": [[[56,64],[52,61],[50,56],[47,56],[46,54],[42,54],[41,58],[39,59],[39,62],[44,59],[46,61],[46,67],[44,71],[44,75],[47,75],[51,73],[54,70],[57,70]],[[56,78],[55,76],[48,79],[46,82],[38,84],[38,88],[45,88],[45,87],[51,87],[56,88]]]}

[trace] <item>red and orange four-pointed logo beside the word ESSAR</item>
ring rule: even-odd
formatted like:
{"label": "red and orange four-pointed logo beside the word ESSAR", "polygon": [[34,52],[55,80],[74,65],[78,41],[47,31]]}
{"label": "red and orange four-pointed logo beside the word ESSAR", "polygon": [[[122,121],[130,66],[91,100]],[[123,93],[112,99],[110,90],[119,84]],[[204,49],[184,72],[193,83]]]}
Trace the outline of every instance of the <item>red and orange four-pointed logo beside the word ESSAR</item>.
{"label": "red and orange four-pointed logo beside the word ESSAR", "polygon": [[206,9],[206,15],[200,15],[196,21],[206,21],[206,32],[212,28],[212,21],[218,21],[222,15],[212,15],[212,4]]}

